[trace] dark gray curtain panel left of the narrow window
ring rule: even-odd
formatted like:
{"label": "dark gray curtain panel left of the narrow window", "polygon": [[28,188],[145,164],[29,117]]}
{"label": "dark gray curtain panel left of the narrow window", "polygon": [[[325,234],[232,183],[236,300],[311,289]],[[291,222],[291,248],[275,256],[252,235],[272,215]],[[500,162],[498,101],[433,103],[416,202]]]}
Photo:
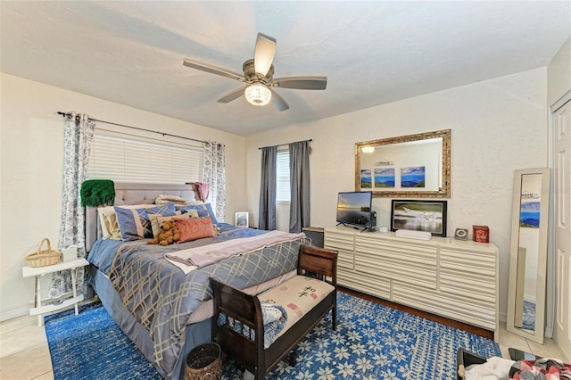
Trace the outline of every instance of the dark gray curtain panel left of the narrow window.
{"label": "dark gray curtain panel left of the narrow window", "polygon": [[277,146],[261,148],[258,228],[270,231],[276,229],[276,160]]}

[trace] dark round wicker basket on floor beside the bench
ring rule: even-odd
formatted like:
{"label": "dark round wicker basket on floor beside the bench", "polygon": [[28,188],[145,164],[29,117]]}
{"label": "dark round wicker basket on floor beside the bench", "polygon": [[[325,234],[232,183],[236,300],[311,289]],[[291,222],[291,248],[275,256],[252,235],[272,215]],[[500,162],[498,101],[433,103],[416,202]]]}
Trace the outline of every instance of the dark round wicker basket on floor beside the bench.
{"label": "dark round wicker basket on floor beside the bench", "polygon": [[222,359],[217,343],[194,347],[186,356],[185,380],[219,380],[222,378]]}

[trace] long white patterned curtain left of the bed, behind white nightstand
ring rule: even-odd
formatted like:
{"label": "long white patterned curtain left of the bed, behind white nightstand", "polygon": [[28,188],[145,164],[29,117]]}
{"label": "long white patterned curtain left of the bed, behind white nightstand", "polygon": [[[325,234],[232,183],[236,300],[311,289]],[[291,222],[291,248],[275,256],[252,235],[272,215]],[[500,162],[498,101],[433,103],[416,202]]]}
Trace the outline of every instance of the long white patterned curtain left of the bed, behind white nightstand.
{"label": "long white patterned curtain left of the bed, behind white nightstand", "polygon": [[[81,207],[79,190],[86,179],[87,161],[93,141],[95,121],[86,114],[70,112],[65,115],[62,219],[58,249],[78,246],[78,257],[86,257],[85,215]],[[78,291],[84,292],[84,268],[78,271]],[[71,291],[70,270],[54,273],[49,296],[59,297]]]}

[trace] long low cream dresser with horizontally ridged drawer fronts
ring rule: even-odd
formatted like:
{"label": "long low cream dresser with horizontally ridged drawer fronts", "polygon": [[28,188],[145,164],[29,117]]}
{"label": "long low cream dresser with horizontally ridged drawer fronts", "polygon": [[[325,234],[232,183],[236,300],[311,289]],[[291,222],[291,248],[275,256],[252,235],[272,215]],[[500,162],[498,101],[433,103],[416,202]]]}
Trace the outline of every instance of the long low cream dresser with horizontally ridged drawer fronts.
{"label": "long low cream dresser with horizontally ridged drawer fronts", "polygon": [[494,244],[327,227],[324,245],[339,252],[337,284],[491,330],[497,340],[499,250]]}

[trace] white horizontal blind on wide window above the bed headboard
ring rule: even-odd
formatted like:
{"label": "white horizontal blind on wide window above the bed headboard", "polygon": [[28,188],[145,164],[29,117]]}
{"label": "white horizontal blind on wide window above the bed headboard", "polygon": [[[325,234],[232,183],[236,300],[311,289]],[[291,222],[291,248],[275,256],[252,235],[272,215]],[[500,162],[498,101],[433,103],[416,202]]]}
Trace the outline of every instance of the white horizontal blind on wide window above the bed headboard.
{"label": "white horizontal blind on wide window above the bed headboard", "polygon": [[87,178],[118,182],[184,184],[202,178],[202,146],[97,133]]}

